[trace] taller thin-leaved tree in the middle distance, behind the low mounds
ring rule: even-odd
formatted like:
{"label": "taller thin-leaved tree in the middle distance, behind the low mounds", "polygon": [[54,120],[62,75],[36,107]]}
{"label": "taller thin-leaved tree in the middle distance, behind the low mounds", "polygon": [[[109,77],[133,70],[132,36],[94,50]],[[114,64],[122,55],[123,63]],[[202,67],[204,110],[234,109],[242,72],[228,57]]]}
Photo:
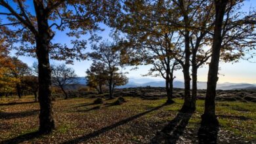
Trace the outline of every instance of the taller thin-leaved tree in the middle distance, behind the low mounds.
{"label": "taller thin-leaved tree in the middle distance, behind the low mounds", "polygon": [[121,86],[128,82],[127,77],[119,71],[123,66],[121,54],[114,43],[102,42],[99,45],[94,45],[95,52],[89,53],[89,57],[93,63],[102,63],[106,73],[106,81],[110,93],[110,98],[113,98],[115,86]]}

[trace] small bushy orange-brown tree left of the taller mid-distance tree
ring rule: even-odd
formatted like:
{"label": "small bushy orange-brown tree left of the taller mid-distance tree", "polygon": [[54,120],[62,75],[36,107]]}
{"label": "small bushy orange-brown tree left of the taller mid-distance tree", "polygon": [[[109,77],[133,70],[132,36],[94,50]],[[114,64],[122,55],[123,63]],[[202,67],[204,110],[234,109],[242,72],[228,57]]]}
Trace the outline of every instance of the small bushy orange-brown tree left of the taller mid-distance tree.
{"label": "small bushy orange-brown tree left of the taller mid-distance tree", "polygon": [[86,71],[87,86],[95,88],[98,94],[102,94],[102,86],[106,85],[106,71],[104,71],[105,65],[100,62],[94,62],[91,64],[90,69]]}

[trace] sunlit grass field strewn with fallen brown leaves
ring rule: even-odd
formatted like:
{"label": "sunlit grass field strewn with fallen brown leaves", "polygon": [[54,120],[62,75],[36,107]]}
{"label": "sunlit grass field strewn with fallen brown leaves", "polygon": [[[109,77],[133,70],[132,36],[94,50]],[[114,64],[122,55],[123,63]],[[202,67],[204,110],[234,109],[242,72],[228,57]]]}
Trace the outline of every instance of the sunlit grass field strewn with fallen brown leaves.
{"label": "sunlit grass field strewn with fallen brown leaves", "polygon": [[182,99],[163,105],[165,99],[125,97],[127,103],[111,105],[92,98],[57,99],[56,130],[37,135],[39,103],[33,96],[0,99],[0,143],[199,143],[217,137],[218,143],[256,143],[256,104],[217,102],[217,133],[200,133],[203,101],[193,114],[179,113]]}

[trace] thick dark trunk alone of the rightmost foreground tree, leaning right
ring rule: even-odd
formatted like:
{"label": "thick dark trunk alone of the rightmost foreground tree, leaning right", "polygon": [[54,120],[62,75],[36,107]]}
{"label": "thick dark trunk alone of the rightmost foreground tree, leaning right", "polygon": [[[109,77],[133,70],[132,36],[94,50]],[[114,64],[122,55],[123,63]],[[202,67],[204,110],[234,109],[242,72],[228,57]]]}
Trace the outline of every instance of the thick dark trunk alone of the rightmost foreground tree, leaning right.
{"label": "thick dark trunk alone of the rightmost foreground tree, leaning right", "polygon": [[202,123],[205,124],[218,124],[217,117],[215,115],[215,96],[216,85],[218,81],[219,70],[219,58],[221,53],[222,43],[222,25],[223,17],[228,1],[215,0],[215,27],[213,35],[213,52],[211,56],[211,62],[209,63],[207,90],[205,96],[205,110],[202,115]]}

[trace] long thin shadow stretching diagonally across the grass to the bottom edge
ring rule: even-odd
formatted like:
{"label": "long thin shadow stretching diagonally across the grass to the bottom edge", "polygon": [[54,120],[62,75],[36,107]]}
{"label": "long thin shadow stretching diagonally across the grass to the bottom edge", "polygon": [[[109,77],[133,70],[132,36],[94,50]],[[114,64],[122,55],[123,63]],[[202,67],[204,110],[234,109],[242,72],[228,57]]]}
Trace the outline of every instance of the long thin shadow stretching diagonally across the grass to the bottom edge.
{"label": "long thin shadow stretching diagonally across the grass to the bottom edge", "polygon": [[165,104],[160,105],[158,107],[154,107],[153,109],[150,109],[148,111],[145,111],[143,113],[139,113],[137,115],[134,115],[133,117],[129,117],[129,118],[125,118],[124,120],[121,120],[119,122],[116,122],[115,124],[112,124],[110,126],[106,126],[104,128],[101,128],[100,130],[96,130],[95,132],[92,132],[90,134],[87,135],[83,135],[81,137],[77,137],[76,139],[72,139],[70,141],[65,141],[63,144],[68,144],[68,143],[79,143],[81,141],[87,141],[88,139],[91,139],[93,137],[96,137],[100,134],[104,134],[105,132],[108,132],[109,130],[112,130],[113,128],[116,128],[117,126],[121,126],[123,124],[126,124],[127,122],[130,122],[131,120],[134,120],[136,118],[142,117],[143,115],[146,115],[147,113],[150,113],[152,111],[156,111],[158,109],[160,109],[161,107],[163,107]]}

